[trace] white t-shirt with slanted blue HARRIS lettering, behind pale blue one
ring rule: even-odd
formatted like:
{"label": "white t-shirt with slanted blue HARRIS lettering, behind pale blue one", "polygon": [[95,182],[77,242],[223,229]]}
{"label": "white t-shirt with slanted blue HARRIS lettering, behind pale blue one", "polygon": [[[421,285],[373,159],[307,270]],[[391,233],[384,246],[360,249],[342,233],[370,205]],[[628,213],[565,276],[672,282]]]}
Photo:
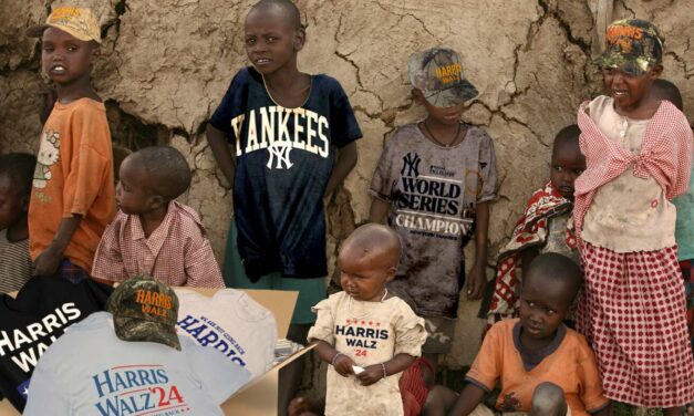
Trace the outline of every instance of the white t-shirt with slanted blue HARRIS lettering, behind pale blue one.
{"label": "white t-shirt with slanted blue HARRIS lettering, behind pale blue one", "polygon": [[227,360],[246,367],[253,377],[270,370],[277,342],[272,312],[235,289],[217,291],[211,298],[189,290],[176,293],[179,334],[217,350]]}

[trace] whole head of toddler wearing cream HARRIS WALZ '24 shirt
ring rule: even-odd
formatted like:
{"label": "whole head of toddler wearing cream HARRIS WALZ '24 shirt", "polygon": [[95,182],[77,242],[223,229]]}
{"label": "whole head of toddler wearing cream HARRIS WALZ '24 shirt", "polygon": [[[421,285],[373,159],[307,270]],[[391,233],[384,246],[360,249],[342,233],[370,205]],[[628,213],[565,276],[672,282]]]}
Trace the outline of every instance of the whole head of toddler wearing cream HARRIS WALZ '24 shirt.
{"label": "whole head of toddler wearing cream HARRIS WALZ '24 shirt", "polygon": [[392,229],[367,223],[348,237],[338,254],[340,285],[359,301],[377,302],[385,283],[395,277],[400,262],[400,239]]}

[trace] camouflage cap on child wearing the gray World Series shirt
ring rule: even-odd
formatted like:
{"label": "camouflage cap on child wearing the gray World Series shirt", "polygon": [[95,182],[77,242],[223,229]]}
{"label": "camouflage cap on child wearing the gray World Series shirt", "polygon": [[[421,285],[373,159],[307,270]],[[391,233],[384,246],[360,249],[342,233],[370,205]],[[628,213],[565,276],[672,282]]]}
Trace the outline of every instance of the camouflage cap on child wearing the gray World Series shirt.
{"label": "camouflage cap on child wearing the gray World Series shirt", "polygon": [[450,49],[434,48],[413,54],[410,82],[435,107],[452,107],[479,94],[465,79],[460,56]]}

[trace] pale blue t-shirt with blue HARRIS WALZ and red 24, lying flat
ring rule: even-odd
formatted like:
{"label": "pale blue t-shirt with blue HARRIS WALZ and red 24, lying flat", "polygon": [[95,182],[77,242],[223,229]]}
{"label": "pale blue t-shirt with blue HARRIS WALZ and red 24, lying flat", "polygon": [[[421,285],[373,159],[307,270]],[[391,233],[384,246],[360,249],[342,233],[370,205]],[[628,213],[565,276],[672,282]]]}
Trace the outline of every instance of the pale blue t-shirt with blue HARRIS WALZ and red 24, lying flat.
{"label": "pale blue t-shirt with blue HARRIS WALZ and red 24, lying flat", "polygon": [[41,356],[23,415],[222,415],[250,378],[241,366],[179,336],[182,351],[125,342],[108,312],[71,326]]}

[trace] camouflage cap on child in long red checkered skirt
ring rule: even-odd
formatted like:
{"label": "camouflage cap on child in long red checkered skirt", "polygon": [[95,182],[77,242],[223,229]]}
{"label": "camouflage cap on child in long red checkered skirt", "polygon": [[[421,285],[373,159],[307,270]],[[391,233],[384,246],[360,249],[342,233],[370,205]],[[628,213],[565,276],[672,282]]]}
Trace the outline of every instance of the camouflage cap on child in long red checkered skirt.
{"label": "camouflage cap on child in long red checkered skirt", "polygon": [[595,60],[630,75],[643,75],[663,58],[663,38],[651,22],[624,19],[612,22],[605,33],[605,51]]}

